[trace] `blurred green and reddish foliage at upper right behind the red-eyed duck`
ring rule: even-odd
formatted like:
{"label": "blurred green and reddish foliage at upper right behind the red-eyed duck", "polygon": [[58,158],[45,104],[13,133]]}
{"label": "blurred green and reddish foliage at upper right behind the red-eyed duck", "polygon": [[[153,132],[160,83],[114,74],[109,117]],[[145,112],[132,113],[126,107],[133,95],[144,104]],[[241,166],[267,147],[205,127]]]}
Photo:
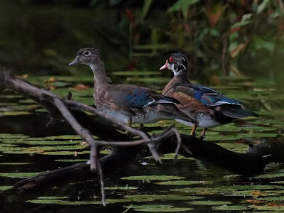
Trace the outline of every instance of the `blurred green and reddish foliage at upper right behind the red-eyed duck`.
{"label": "blurred green and reddish foliage at upper right behind the red-eyed duck", "polygon": [[[153,8],[159,11],[158,8]],[[198,1],[179,0],[166,9],[167,25],[151,19],[149,30],[155,39],[141,39],[133,56],[183,52],[190,56],[191,76],[214,75],[263,77],[283,80],[283,4],[281,1]],[[138,16],[138,15],[137,15]],[[150,19],[153,16],[148,16]],[[147,25],[145,20],[140,23]],[[158,38],[158,39],[157,39]],[[157,49],[166,43],[164,48]],[[145,48],[148,48],[148,55]],[[139,58],[141,60],[141,58]],[[275,61],[277,61],[275,63]],[[283,67],[283,66],[282,66]],[[260,75],[261,74],[261,75]]]}

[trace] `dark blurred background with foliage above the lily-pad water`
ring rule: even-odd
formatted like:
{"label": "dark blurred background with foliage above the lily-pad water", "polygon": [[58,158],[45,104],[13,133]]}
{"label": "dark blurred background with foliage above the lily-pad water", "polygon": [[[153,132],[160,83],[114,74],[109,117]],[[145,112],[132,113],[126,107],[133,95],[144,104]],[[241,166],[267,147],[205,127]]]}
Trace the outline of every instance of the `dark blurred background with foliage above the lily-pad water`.
{"label": "dark blurred background with foliage above the lily-pad water", "polygon": [[92,75],[67,64],[94,47],[107,72],[158,72],[180,52],[202,83],[284,80],[281,0],[1,0],[0,13],[0,66],[19,75]]}

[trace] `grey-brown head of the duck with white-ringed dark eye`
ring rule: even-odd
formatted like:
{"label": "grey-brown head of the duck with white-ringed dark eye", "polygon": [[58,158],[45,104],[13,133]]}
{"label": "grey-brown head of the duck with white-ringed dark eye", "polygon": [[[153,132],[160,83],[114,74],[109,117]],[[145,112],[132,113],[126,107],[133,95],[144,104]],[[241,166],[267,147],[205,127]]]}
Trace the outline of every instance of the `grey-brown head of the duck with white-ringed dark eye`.
{"label": "grey-brown head of the duck with white-ringed dark eye", "polygon": [[103,65],[102,58],[99,55],[99,51],[94,48],[81,48],[77,51],[75,60],[70,62],[69,66],[84,64],[94,70],[97,65]]}

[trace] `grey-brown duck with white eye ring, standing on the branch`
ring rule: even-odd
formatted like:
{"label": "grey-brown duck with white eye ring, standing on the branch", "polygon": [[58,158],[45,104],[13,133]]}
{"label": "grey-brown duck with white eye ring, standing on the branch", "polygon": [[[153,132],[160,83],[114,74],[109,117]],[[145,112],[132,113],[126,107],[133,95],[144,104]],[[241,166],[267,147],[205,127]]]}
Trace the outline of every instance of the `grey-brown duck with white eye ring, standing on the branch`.
{"label": "grey-brown duck with white eye ring, standing on the branch", "polygon": [[163,119],[182,119],[197,124],[190,112],[185,114],[175,106],[177,100],[165,97],[146,87],[130,84],[112,84],[104,72],[104,62],[99,51],[93,48],[78,50],[70,66],[84,64],[94,73],[94,102],[104,111],[124,124],[155,123]]}

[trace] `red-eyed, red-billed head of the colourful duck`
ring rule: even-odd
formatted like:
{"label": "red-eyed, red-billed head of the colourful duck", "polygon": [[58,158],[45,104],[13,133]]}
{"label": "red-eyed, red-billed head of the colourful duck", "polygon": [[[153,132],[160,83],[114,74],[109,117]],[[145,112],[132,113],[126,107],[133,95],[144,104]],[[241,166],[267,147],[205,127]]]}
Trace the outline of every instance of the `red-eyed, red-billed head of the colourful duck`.
{"label": "red-eyed, red-billed head of the colourful duck", "polygon": [[174,75],[187,72],[187,58],[181,53],[171,53],[168,55],[165,65],[160,70],[172,70]]}

